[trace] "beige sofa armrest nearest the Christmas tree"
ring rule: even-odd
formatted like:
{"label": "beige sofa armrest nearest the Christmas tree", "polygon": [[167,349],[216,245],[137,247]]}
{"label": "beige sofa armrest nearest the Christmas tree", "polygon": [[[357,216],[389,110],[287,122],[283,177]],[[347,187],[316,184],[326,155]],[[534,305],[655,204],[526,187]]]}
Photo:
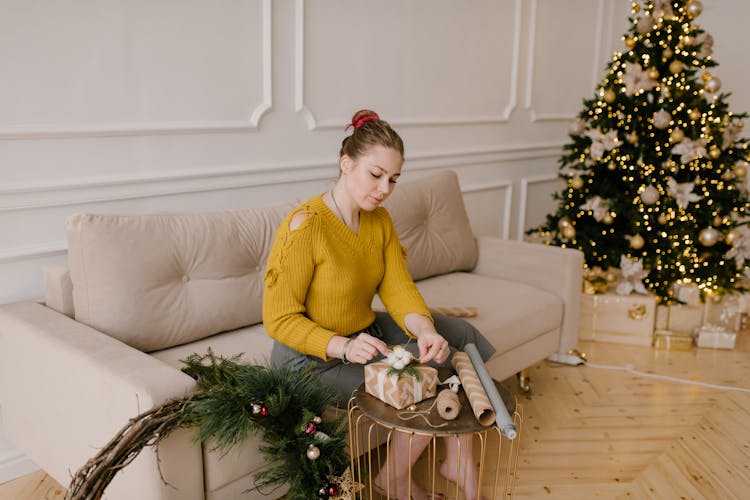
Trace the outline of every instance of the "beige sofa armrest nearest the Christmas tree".
{"label": "beige sofa armrest nearest the Christmas tree", "polygon": [[583,280],[583,253],[540,243],[477,238],[479,259],[473,272],[526,283],[554,293],[564,304],[558,352],[578,343],[578,315]]}

